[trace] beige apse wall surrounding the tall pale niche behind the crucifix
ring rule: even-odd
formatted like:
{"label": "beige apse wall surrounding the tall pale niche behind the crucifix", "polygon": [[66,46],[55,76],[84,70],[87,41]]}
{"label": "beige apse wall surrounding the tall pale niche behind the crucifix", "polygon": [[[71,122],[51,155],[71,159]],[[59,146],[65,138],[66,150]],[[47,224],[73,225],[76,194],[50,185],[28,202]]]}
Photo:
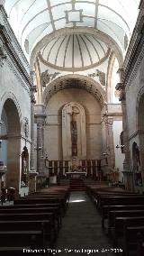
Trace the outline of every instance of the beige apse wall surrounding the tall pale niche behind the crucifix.
{"label": "beige apse wall surrounding the tall pale niche behind the crucifix", "polygon": [[49,160],[62,160],[61,110],[68,102],[77,102],[85,108],[86,157],[101,159],[101,108],[94,96],[85,90],[68,88],[52,96],[46,107],[45,151]]}

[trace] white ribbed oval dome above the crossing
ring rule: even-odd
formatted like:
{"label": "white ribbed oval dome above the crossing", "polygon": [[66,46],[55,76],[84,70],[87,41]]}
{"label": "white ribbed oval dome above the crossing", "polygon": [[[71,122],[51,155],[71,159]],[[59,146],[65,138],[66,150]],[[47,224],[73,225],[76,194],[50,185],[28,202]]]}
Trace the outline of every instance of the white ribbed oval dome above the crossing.
{"label": "white ribbed oval dome above the crossing", "polygon": [[73,33],[56,37],[40,50],[40,60],[52,68],[79,71],[98,66],[109,55],[109,48],[96,36]]}

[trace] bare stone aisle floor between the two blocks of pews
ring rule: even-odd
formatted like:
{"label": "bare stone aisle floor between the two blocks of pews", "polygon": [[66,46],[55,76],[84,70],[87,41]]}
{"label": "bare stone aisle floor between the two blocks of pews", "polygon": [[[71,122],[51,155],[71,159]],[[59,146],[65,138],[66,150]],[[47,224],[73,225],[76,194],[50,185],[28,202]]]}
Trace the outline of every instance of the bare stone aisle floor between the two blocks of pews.
{"label": "bare stone aisle floor between the two blocks of pews", "polygon": [[56,249],[60,256],[116,255],[102,231],[101,216],[85,192],[71,192]]}

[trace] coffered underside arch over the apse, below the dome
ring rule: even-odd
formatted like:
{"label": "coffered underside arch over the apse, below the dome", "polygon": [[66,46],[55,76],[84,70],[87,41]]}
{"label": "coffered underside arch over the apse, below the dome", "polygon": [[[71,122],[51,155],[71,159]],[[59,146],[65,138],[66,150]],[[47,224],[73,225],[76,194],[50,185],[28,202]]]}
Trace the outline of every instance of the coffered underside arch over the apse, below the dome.
{"label": "coffered underside arch over the apse, below the dome", "polygon": [[[72,83],[67,83],[70,79],[76,79],[78,81],[78,84],[76,86]],[[85,77],[84,75],[78,75],[78,74],[69,74],[62,77],[59,77],[49,83],[49,87],[46,87],[43,96],[42,96],[42,102],[44,105],[47,105],[49,102],[49,98],[56,94],[59,90],[68,88],[68,87],[78,87],[85,89],[89,93],[91,93],[96,99],[100,102],[101,107],[103,108],[103,105],[106,102],[106,94],[103,90],[103,87],[95,82],[92,78]]]}

